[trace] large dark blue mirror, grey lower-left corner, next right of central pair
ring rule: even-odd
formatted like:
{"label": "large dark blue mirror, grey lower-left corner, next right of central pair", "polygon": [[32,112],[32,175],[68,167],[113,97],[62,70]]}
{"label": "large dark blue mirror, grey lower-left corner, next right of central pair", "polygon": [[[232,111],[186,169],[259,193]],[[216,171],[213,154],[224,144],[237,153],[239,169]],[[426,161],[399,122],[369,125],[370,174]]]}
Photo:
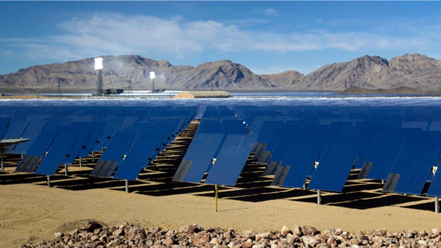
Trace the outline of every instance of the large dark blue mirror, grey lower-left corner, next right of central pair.
{"label": "large dark blue mirror, grey lower-left corner, next right of central pair", "polygon": [[288,168],[277,170],[271,185],[302,188],[328,141],[327,135],[296,135],[281,162],[281,167]]}

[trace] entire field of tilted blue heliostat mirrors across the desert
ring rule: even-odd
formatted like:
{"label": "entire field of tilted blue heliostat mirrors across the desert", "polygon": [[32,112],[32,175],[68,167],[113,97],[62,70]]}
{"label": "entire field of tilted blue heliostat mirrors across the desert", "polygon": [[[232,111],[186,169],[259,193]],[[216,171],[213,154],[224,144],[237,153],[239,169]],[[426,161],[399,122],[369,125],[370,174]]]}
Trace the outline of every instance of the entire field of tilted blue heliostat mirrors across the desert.
{"label": "entire field of tilted blue heliostat mirrors across the desert", "polygon": [[0,137],[29,138],[5,147],[23,154],[15,172],[51,176],[103,151],[91,177],[136,180],[196,116],[173,181],[234,186],[252,155],[273,186],[341,192],[360,169],[383,192],[441,196],[439,106],[7,106]]}

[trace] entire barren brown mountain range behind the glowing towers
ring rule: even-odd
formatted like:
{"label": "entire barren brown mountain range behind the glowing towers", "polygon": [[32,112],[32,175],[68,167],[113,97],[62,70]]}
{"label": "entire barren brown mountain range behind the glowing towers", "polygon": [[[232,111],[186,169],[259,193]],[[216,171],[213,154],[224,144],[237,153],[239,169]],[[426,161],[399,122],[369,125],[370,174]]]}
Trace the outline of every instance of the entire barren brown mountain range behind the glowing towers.
{"label": "entire barren brown mountain range behind the glowing towers", "polygon": [[[363,56],[349,62],[325,65],[307,75],[295,70],[257,75],[230,60],[206,62],[196,67],[172,65],[139,55],[103,56],[104,89],[150,90],[150,71],[156,72],[157,89],[228,91],[343,91],[351,87],[370,90],[441,88],[441,60],[404,54],[391,60]],[[94,58],[35,65],[0,75],[0,89],[9,91],[82,91],[96,89]]]}

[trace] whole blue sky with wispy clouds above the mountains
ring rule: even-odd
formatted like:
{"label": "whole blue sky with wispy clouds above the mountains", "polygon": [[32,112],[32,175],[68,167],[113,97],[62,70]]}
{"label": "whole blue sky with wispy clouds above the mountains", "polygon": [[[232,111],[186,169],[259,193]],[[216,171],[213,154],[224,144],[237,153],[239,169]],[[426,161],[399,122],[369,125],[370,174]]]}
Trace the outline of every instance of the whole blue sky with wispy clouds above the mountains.
{"label": "whole blue sky with wispy clouds above the mountains", "polygon": [[441,2],[0,1],[0,74],[121,54],[307,74],[405,53],[441,59]]}

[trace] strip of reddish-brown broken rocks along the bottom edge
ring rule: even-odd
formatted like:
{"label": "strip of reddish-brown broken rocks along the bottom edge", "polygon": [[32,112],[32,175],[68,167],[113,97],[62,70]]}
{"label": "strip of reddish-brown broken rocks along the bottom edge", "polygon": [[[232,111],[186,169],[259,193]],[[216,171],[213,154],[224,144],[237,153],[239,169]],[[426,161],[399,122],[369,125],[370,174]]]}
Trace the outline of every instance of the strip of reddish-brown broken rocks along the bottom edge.
{"label": "strip of reddish-brown broken rocks along the bottom edge", "polygon": [[[92,229],[96,227],[95,229]],[[284,248],[284,247],[440,247],[441,229],[410,229],[389,233],[385,229],[369,233],[350,233],[341,229],[323,232],[312,226],[283,226],[280,231],[236,232],[219,227],[204,229],[185,225],[179,230],[161,227],[144,228],[124,222],[119,226],[101,227],[92,221],[81,222],[78,229],[54,233],[55,239],[29,241],[27,247],[209,247],[209,248]]]}

